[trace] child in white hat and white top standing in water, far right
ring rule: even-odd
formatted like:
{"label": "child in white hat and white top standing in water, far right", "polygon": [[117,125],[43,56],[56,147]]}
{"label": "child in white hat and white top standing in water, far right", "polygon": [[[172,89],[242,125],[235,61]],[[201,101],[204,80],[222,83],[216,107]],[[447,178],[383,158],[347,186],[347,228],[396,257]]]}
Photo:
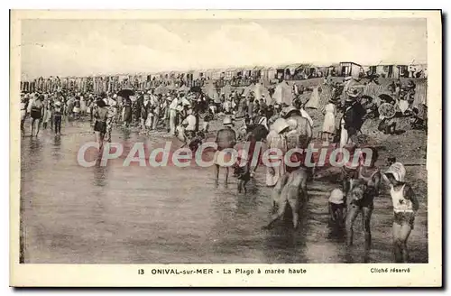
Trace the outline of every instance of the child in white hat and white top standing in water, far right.
{"label": "child in white hat and white top standing in water, far right", "polygon": [[407,263],[409,253],[407,240],[414,227],[415,217],[419,210],[419,200],[405,181],[406,169],[400,162],[391,164],[384,173],[390,184],[390,195],[393,205],[393,243],[396,263]]}

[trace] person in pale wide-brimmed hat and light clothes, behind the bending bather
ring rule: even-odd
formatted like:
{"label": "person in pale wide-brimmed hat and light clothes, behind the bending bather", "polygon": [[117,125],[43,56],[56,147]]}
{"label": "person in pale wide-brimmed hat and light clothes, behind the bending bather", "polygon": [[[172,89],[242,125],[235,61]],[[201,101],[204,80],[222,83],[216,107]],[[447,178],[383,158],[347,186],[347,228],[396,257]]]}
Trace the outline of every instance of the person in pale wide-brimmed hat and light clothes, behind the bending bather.
{"label": "person in pale wide-brimmed hat and light clothes, behind the bending bather", "polygon": [[278,180],[286,172],[285,163],[283,162],[283,155],[287,153],[287,140],[285,134],[290,130],[290,125],[284,118],[278,118],[271,126],[270,133],[266,136],[266,145],[268,149],[278,149],[281,151],[280,163],[276,167],[266,167],[266,186],[273,187]]}

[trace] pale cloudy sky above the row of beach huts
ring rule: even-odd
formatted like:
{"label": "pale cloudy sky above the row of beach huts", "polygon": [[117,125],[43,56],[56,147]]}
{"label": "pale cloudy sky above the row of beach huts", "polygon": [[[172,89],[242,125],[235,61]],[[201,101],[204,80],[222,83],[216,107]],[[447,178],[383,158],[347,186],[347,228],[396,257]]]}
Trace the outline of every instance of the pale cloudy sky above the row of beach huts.
{"label": "pale cloudy sky above the row of beach huts", "polygon": [[426,19],[23,20],[22,78],[427,62]]}

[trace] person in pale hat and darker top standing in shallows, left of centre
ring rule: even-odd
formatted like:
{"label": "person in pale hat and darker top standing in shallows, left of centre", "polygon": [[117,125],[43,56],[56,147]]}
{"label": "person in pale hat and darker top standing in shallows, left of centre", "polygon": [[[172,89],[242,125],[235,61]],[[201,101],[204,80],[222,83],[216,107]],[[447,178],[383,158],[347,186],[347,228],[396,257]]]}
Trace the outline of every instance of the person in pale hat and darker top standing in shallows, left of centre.
{"label": "person in pale hat and darker top standing in shallows, left of centre", "polygon": [[[219,180],[219,167],[224,167],[224,162],[230,157],[229,153],[224,152],[227,148],[234,148],[236,143],[236,132],[233,129],[234,123],[230,116],[226,116],[223,120],[224,128],[216,133],[215,143],[217,144],[217,151],[214,156],[214,163],[216,166],[215,180],[216,184]],[[228,182],[229,167],[225,166],[225,183]]]}

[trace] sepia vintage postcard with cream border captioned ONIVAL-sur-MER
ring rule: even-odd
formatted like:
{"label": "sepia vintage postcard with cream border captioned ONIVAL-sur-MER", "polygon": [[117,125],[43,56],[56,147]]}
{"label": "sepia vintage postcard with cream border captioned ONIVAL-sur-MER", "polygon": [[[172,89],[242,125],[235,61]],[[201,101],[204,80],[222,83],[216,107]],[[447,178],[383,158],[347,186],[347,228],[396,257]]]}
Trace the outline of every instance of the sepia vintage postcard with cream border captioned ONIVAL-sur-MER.
{"label": "sepia vintage postcard with cream border captioned ONIVAL-sur-MER", "polygon": [[12,11],[10,284],[440,287],[437,11]]}

